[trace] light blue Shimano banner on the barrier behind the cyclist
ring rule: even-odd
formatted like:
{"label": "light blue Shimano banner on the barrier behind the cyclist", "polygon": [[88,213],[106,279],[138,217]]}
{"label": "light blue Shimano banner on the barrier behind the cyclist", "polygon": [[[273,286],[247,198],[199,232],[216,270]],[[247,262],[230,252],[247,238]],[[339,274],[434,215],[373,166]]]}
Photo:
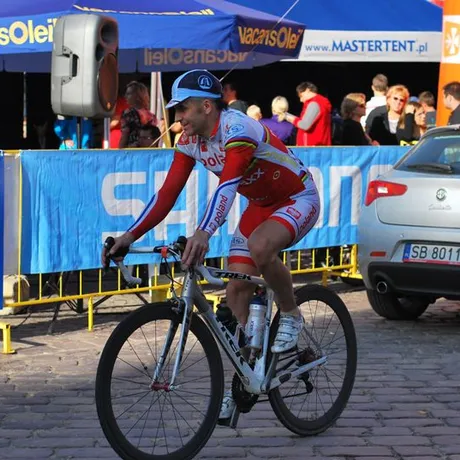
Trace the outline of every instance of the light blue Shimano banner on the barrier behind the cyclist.
{"label": "light blue Shimano banner on the barrier behind the cyclist", "polygon": [[[317,184],[322,209],[311,232],[294,249],[357,242],[367,184],[388,170],[408,147],[295,148]],[[172,150],[25,151],[23,164],[23,273],[100,267],[102,243],[123,233],[162,185]],[[168,217],[136,242],[172,242],[194,233],[217,177],[197,165]],[[246,206],[235,200],[227,222],[210,240],[209,257],[228,253],[231,235]],[[127,263],[158,256],[131,255]]]}

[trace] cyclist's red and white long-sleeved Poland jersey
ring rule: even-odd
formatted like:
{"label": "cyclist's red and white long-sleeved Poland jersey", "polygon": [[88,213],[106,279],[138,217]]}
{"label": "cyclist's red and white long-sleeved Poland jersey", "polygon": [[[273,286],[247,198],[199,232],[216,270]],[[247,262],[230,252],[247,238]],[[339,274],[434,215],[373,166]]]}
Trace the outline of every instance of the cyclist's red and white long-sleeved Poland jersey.
{"label": "cyclist's red and white long-sleeved Poland jersey", "polygon": [[223,110],[209,138],[182,135],[163,187],[129,229],[136,239],[166,217],[197,161],[220,178],[198,226],[210,235],[224,223],[237,192],[257,206],[282,203],[309,188],[317,193],[308,170],[268,128]]}

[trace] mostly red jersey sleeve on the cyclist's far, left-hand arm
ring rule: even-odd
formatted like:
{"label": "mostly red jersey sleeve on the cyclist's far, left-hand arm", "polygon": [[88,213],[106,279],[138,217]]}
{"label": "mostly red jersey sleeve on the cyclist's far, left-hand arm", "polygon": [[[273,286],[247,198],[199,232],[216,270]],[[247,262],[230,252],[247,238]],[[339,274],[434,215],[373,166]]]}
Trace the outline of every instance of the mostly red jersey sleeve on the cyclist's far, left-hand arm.
{"label": "mostly red jersey sleeve on the cyclist's far, left-hand arm", "polygon": [[136,240],[158,225],[168,215],[194,166],[195,160],[193,158],[179,150],[175,151],[163,186],[152,197],[136,222],[128,229],[128,232],[131,232]]}

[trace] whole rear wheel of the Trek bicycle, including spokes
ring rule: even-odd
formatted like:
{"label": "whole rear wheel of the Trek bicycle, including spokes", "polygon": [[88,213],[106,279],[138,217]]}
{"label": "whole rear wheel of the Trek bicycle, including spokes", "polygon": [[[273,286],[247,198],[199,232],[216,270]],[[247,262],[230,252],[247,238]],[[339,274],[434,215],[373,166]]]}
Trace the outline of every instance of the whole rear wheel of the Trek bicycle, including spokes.
{"label": "whole rear wheel of the Trek bicycle, including spokes", "polygon": [[[297,348],[279,355],[277,372],[295,370],[324,356],[327,362],[270,391],[268,397],[286,428],[310,436],[329,428],[348,403],[356,375],[356,334],[347,307],[331,290],[308,285],[295,295],[305,327]],[[279,312],[272,323],[270,345],[278,321]]]}

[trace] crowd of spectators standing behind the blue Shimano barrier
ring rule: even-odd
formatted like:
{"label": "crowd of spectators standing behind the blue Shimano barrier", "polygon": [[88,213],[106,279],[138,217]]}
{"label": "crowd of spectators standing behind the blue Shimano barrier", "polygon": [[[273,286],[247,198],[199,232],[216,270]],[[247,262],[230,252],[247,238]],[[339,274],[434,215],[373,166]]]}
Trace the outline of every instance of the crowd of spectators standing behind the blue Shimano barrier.
{"label": "crowd of spectators standing behind the blue Shimano barrier", "polygon": [[[302,82],[295,89],[302,103],[300,113],[291,113],[286,95],[279,95],[272,100],[268,117],[264,117],[258,105],[241,100],[233,82],[224,83],[223,100],[229,108],[267,126],[290,146],[411,145],[436,125],[436,101],[430,91],[411,95],[403,84],[389,86],[383,74],[376,75],[370,86],[373,95],[369,100],[364,92],[349,93],[337,110],[320,94],[315,83]],[[460,82],[446,84],[440,97],[451,111],[448,123],[460,123]],[[157,118],[150,111],[148,88],[132,81],[117,99],[110,120],[109,146],[170,147],[180,137],[181,126],[174,120],[168,125],[165,117]],[[35,128],[40,139],[40,127]],[[59,148],[64,150],[101,147],[93,128],[91,120],[81,119],[77,124],[76,117],[58,115],[54,122],[54,134],[59,139]],[[42,146],[45,143],[40,142],[41,148],[48,148]]]}

